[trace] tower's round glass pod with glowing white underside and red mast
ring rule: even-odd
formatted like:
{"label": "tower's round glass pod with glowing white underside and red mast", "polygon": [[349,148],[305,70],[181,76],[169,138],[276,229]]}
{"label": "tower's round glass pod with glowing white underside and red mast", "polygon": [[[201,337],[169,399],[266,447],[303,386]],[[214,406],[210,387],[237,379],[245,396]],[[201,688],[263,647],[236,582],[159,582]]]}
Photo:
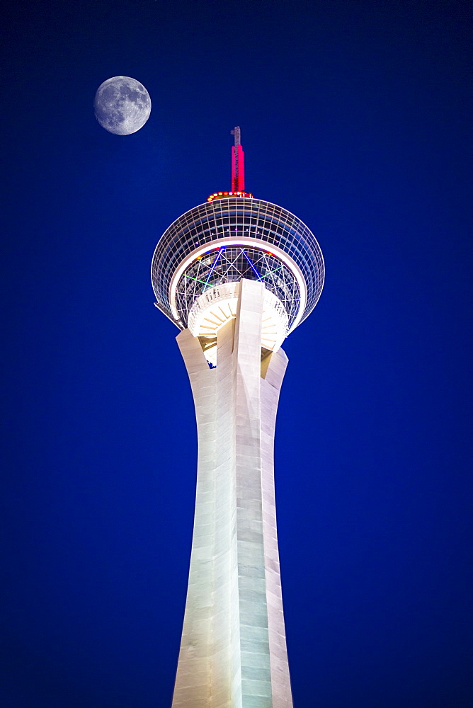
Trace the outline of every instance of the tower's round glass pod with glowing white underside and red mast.
{"label": "tower's round glass pod with glowing white underside and red mast", "polygon": [[[243,159],[241,149],[235,154]],[[156,307],[200,338],[210,363],[218,329],[236,316],[242,278],[268,291],[261,346],[273,351],[312,312],[324,285],[324,258],[310,229],[244,190],[210,195],[176,219],[154,251]]]}

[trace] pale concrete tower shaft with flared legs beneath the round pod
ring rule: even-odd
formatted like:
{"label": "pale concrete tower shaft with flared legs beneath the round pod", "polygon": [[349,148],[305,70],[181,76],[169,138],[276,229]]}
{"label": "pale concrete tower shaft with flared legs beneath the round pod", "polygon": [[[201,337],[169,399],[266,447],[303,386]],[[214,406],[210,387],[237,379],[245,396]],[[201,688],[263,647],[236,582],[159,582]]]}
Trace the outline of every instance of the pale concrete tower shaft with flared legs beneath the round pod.
{"label": "pale concrete tower shaft with flared legs beneath the round pod", "polygon": [[178,337],[195,402],[198,477],[173,708],[292,708],[281,595],[273,440],[287,357],[261,358],[263,282],[237,284],[217,367]]}

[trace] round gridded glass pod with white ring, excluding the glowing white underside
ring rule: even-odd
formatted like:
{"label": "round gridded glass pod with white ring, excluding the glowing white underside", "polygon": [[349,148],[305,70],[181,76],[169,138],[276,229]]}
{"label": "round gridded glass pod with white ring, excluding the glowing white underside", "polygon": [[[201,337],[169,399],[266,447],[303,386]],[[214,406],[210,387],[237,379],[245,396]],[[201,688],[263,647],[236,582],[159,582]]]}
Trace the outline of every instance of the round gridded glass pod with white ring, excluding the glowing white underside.
{"label": "round gridded glass pod with white ring, excluding the glowing white underside", "polygon": [[203,292],[241,278],[264,282],[283,304],[292,331],[312,312],[324,285],[314,234],[278,205],[224,198],[176,219],[154,251],[156,304],[181,329]]}

